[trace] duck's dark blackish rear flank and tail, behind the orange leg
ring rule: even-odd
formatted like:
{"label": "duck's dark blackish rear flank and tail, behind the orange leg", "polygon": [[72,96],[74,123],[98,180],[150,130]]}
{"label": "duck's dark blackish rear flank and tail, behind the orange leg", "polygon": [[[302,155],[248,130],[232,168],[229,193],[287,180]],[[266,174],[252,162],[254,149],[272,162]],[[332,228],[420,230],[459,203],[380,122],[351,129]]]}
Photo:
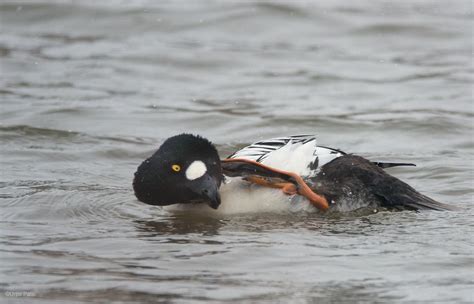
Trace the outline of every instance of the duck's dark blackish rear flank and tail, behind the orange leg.
{"label": "duck's dark blackish rear flank and tail, behind the orange leg", "polygon": [[324,165],[310,183],[316,193],[330,202],[330,208],[338,211],[362,207],[391,210],[451,209],[356,155],[344,155]]}

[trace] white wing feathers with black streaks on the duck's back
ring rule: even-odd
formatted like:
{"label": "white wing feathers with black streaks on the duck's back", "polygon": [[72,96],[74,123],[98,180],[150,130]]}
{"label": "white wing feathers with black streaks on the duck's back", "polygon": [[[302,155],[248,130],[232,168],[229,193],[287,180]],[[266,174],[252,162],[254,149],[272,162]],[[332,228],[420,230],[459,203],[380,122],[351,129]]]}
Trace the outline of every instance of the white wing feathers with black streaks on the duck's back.
{"label": "white wing feathers with black streaks on the duck's back", "polygon": [[303,177],[312,177],[321,166],[345,154],[336,149],[317,146],[314,135],[295,135],[253,143],[228,158],[250,159]]}

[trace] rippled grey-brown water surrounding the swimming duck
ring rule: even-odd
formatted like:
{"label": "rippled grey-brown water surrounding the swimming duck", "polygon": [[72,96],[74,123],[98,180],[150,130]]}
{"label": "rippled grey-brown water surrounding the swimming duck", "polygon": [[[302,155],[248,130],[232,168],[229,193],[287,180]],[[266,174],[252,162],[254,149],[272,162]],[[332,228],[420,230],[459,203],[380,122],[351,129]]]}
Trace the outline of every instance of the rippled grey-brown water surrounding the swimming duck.
{"label": "rippled grey-brown water surrounding the swimming duck", "polygon": [[[473,301],[470,1],[2,1],[2,302]],[[456,212],[170,214],[133,172],[316,133]],[[19,292],[19,293],[15,293]]]}

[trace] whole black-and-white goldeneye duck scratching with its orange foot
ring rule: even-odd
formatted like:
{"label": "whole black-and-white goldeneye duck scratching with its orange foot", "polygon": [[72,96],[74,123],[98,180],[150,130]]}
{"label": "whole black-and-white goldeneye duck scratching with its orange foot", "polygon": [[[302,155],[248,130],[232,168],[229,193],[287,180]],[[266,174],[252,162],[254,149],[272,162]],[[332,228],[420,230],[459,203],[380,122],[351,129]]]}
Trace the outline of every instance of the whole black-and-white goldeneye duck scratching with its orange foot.
{"label": "whole black-and-white goldeneye duck scratching with its orange foot", "polygon": [[223,213],[453,209],[384,171],[395,166],[413,164],[371,162],[314,135],[259,141],[221,161],[207,139],[180,134],[138,167],[133,188],[146,204]]}

